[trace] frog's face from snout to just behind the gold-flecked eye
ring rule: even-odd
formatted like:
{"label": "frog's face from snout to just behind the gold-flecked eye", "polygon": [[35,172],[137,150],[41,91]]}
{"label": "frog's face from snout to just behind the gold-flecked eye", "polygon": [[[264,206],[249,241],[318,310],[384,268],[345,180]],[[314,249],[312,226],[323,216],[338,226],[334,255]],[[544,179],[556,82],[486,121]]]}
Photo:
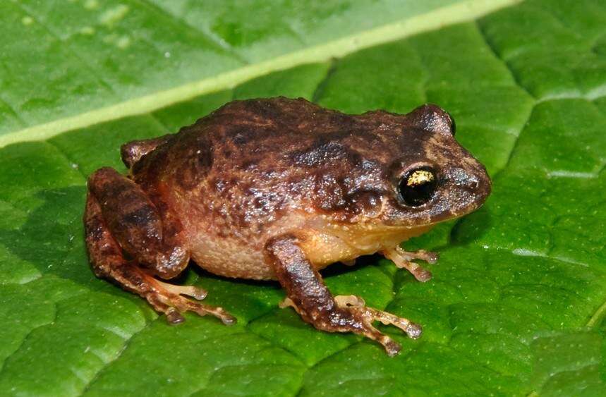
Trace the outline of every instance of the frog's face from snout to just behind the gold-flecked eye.
{"label": "frog's face from snout to just behind the gold-flecked eye", "polygon": [[387,193],[383,224],[435,224],[472,212],[490,194],[486,169],[454,138],[454,119],[425,104],[401,116],[404,128],[394,142],[394,159],[384,175]]}

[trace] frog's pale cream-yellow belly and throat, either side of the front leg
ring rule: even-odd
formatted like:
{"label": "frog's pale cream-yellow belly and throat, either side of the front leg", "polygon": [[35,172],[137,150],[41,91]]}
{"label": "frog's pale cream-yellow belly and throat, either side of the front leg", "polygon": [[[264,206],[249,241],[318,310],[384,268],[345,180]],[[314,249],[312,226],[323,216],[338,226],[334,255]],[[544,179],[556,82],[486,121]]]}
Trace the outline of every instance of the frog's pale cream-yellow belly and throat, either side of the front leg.
{"label": "frog's pale cream-yellow belly and throat, either side of the front leg", "polygon": [[301,248],[316,269],[334,262],[351,262],[360,255],[370,255],[394,248],[408,238],[425,233],[433,225],[396,227],[368,224],[334,225],[322,219],[305,221],[303,216],[289,216],[265,233],[247,236],[215,236],[212,227],[205,230],[186,225],[192,259],[213,274],[238,279],[274,280],[276,276],[264,255],[269,238],[291,233],[301,241]]}

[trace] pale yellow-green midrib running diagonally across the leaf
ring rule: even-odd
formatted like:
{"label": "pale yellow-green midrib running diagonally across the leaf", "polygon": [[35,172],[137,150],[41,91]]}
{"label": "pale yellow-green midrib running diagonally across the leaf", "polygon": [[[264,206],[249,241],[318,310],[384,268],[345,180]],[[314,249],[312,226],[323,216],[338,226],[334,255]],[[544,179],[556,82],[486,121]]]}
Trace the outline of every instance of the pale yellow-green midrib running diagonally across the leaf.
{"label": "pale yellow-green midrib running diagonally across the leaf", "polygon": [[232,71],[219,73],[212,78],[193,81],[169,90],[153,92],[124,102],[105,106],[100,109],[86,111],[82,114],[50,121],[7,133],[0,136],[0,147],[11,143],[31,140],[44,140],[68,130],[91,126],[92,124],[115,120],[136,114],[150,113],[165,106],[182,102],[202,94],[233,88],[252,78],[273,71],[301,65],[327,61],[335,57],[345,56],[363,48],[394,41],[410,35],[443,28],[454,23],[474,20],[504,6],[517,4],[521,0],[466,0],[461,3],[436,8],[435,10],[413,16],[408,19],[381,25],[365,30],[356,35],[334,39],[325,44],[307,47],[289,54],[277,56],[268,61],[252,63]]}

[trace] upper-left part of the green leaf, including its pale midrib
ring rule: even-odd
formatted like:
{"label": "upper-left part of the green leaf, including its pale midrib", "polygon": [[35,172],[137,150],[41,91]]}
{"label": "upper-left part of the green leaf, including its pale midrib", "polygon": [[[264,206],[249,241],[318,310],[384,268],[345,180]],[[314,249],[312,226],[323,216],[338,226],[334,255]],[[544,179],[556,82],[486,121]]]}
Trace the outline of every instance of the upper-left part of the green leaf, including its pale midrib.
{"label": "upper-left part of the green leaf, including its pale midrib", "polygon": [[518,1],[4,1],[0,145],[154,111]]}

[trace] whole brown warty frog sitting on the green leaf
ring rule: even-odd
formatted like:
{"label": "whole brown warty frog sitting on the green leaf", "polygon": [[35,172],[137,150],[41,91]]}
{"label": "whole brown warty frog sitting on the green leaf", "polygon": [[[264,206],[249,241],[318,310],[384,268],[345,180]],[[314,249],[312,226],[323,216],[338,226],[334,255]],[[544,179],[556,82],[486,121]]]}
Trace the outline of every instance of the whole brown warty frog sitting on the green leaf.
{"label": "whole brown warty frog sitting on the green leaf", "polygon": [[236,323],[202,302],[204,289],[169,283],[190,262],[226,278],[277,281],[286,295],[280,307],[394,356],[400,343],[375,322],[411,338],[420,324],[357,295],[333,295],[320,271],[383,255],[431,279],[418,261],[434,263],[437,254],[401,243],[473,212],[491,190],[485,166],[455,132],[454,118],[435,104],[345,114],[303,98],[234,100],[177,133],[122,145],[126,175],[103,167],[87,178],[92,270],[169,324],[186,312]]}

